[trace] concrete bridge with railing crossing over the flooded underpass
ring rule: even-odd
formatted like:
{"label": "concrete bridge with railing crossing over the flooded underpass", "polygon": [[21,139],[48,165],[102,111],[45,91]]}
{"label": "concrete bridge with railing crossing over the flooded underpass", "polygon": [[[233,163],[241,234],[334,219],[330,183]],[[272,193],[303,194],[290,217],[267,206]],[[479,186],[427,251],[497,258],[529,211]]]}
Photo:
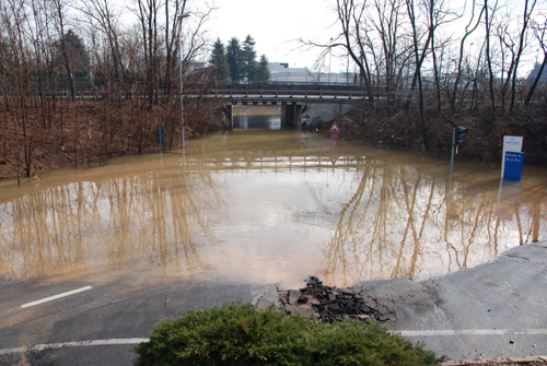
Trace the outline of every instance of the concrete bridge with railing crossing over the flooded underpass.
{"label": "concrete bridge with railing crossing over the flooded underpass", "polygon": [[303,116],[331,120],[347,113],[354,102],[366,98],[366,92],[359,84],[251,82],[217,84],[209,96],[226,105],[279,105],[281,126],[295,127]]}

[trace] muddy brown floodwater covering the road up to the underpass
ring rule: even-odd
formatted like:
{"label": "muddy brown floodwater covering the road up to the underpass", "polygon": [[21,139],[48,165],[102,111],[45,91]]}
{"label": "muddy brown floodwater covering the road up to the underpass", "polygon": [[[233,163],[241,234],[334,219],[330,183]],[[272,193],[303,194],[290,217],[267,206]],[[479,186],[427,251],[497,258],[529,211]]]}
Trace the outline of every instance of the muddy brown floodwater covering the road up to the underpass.
{"label": "muddy brown floodwater covering the road up to the underpass", "polygon": [[0,181],[0,279],[119,271],[302,285],[424,279],[547,238],[547,170],[235,130],[183,154]]}

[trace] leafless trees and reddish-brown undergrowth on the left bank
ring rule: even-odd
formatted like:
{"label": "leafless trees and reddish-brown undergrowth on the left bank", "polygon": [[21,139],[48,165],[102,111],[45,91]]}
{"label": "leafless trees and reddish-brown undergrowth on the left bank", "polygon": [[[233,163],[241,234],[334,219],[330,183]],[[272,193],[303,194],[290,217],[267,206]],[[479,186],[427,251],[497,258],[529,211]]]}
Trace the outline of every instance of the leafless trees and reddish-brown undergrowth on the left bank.
{"label": "leafless trees and reddish-brown undergrowth on the left bank", "polygon": [[191,5],[188,17],[187,0],[136,0],[128,25],[109,0],[0,2],[0,178],[158,151],[159,123],[179,147],[181,80],[187,135],[213,129],[194,61],[212,7]]}

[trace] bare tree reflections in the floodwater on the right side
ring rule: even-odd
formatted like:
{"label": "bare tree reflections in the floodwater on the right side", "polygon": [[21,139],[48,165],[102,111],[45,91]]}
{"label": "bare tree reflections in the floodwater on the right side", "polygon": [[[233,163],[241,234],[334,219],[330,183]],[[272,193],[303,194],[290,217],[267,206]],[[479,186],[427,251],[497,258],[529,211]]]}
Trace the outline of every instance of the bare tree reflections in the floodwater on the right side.
{"label": "bare tree reflections in the floodwater on the right side", "polygon": [[336,214],[325,248],[326,282],[442,274],[537,240],[546,221],[545,194],[519,189],[510,215],[503,216],[503,199],[492,185],[446,179],[387,158],[368,160],[348,176],[344,185],[353,193]]}

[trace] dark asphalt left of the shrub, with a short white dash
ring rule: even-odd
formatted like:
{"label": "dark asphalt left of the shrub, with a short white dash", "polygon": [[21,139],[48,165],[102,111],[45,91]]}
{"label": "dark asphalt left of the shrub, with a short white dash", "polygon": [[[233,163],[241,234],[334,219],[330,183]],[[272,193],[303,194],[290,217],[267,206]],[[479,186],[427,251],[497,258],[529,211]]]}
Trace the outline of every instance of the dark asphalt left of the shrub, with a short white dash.
{"label": "dark asphalt left of the shrub, with a short white dash", "polygon": [[[275,286],[133,280],[0,283],[0,365],[132,365],[132,347],[163,319],[277,294]],[[74,288],[86,290],[22,307]]]}

